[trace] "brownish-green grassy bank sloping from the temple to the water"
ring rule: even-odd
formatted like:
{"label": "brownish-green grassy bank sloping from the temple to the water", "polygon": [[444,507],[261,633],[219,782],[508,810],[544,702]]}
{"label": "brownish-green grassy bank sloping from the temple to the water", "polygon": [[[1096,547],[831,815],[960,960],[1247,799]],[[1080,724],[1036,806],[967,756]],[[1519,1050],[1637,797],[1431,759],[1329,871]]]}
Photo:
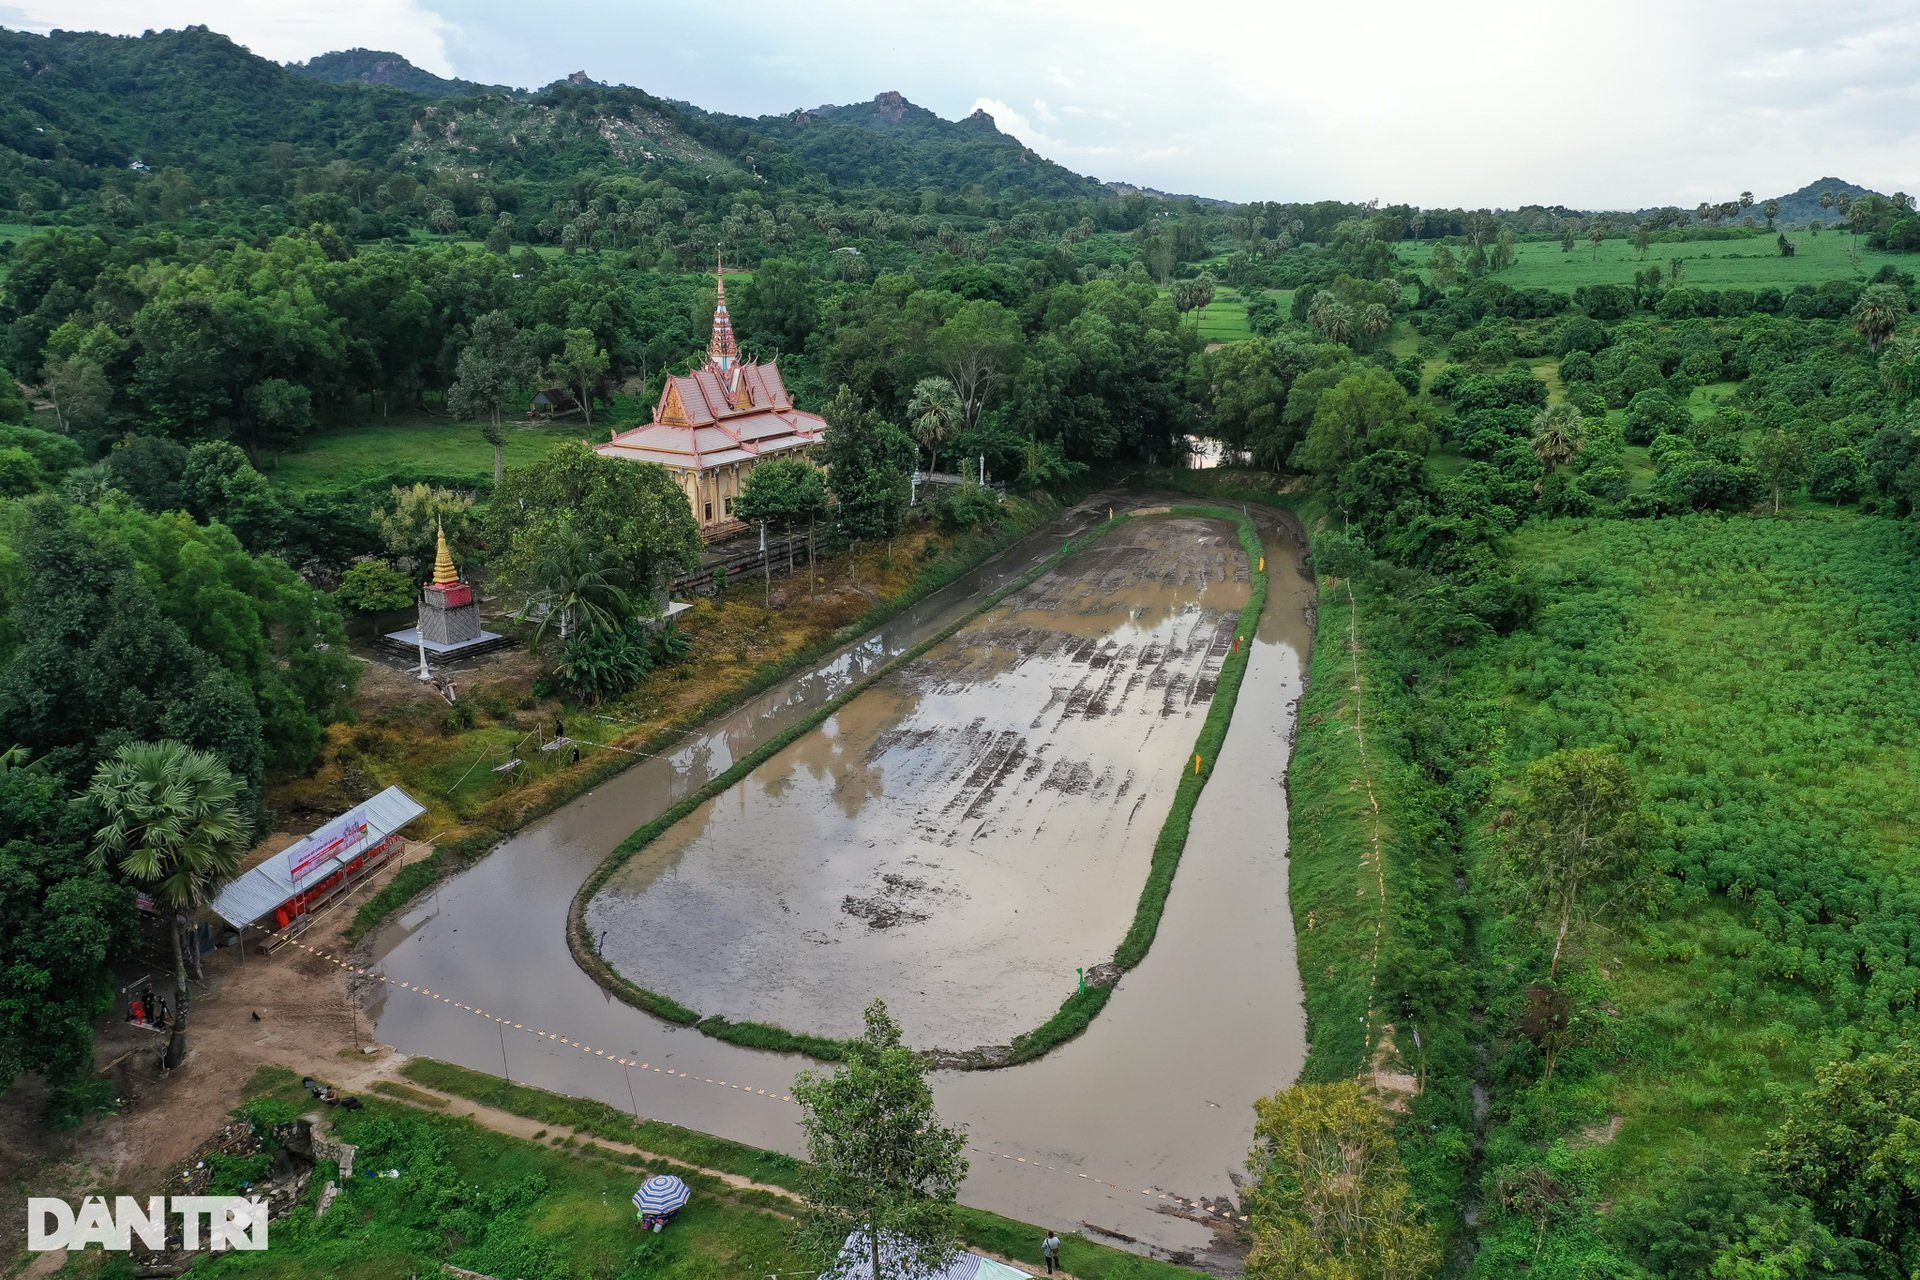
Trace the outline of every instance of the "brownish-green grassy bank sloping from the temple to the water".
{"label": "brownish-green grassy bank sloping from the temple to the water", "polygon": [[[847,581],[845,558],[824,560],[818,574],[828,585],[818,601],[808,599],[799,578],[780,583],[772,604],[756,583],[735,583],[724,599],[703,599],[682,616],[693,643],[684,662],[655,670],[634,693],[599,708],[534,697],[530,672],[495,679],[482,674],[461,695],[465,710],[420,699],[363,706],[357,725],[328,731],[321,770],[278,787],[269,800],[282,810],[336,812],[397,783],[428,806],[442,841],[361,904],[348,929],[348,940],[357,940],[507,835],[626,770],[634,752],[666,748],[954,581],[1056,510],[1016,501],[993,533],[941,539],[918,530],[891,555],[879,547],[860,553],[858,585]],[[570,737],[588,745],[578,766],[561,752],[528,747],[516,773],[492,771],[516,743],[551,729],[555,714],[570,722]]]}

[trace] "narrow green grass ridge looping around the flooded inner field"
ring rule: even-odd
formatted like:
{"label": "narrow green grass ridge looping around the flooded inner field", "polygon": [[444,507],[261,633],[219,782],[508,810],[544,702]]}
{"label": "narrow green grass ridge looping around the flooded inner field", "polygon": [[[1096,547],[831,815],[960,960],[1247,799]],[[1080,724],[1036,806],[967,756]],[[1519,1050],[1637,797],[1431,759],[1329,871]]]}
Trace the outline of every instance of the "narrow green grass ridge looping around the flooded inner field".
{"label": "narrow green grass ridge looping around the flooded inner field", "polygon": [[[1213,520],[1229,520],[1235,524],[1240,535],[1240,549],[1248,557],[1248,574],[1252,580],[1248,603],[1240,612],[1240,635],[1252,635],[1260,622],[1260,612],[1261,608],[1265,608],[1267,603],[1267,574],[1256,568],[1260,564],[1261,549],[1260,549],[1260,533],[1254,530],[1252,520],[1225,507],[1198,507],[1198,505],[1169,507],[1165,514],[1204,516]],[[956,622],[943,628],[939,633],[927,637],[920,645],[914,645],[912,649],[904,651],[899,658],[895,658],[887,666],[877,668],[860,681],[854,681],[852,685],[843,689],[837,697],[822,704],[808,718],[791,725],[783,733],[774,735],[758,748],[737,760],[730,770],[708,781],[699,791],[687,794],[670,810],[660,814],[657,819],[653,819],[651,823],[630,835],[626,841],[622,841],[574,894],[574,902],[566,919],[566,944],[572,950],[574,960],[580,963],[580,967],[586,969],[589,975],[593,975],[593,981],[597,981],[603,988],[620,996],[628,1004],[645,1009],[647,1013],[653,1013],[655,1017],[666,1019],[670,1023],[697,1027],[699,1031],[714,1038],[730,1040],[733,1044],[745,1044],[751,1048],[776,1050],[785,1054],[806,1054],[810,1057],[822,1057],[829,1061],[837,1059],[841,1055],[841,1046],[837,1040],[804,1032],[793,1032],[783,1027],[770,1027],[766,1023],[732,1023],[724,1017],[703,1017],[697,1009],[689,1009],[687,1006],[680,1004],[670,996],[639,986],[637,983],[616,971],[612,965],[609,965],[605,960],[601,960],[601,956],[593,950],[593,938],[588,935],[588,925],[586,925],[588,904],[593,900],[593,894],[599,892],[599,889],[607,883],[607,879],[612,877],[614,871],[618,871],[622,865],[626,865],[626,862],[630,862],[636,854],[647,848],[647,844],[664,835],[674,823],[693,814],[701,804],[707,804],[714,796],[722,794],[724,791],[745,779],[749,773],[753,773],[753,770],[760,768],[760,764],[770,760],[774,754],[778,754],[797,739],[804,737],[806,733],[818,729],[841,706],[856,699],[860,693],[864,693],[876,681],[883,679],[887,674],[920,658],[935,645],[945,643],[956,631],[960,631],[960,628],[973,622],[989,608],[993,608],[1006,597],[1014,595],[1016,591],[1021,591],[1023,587],[1031,585],[1044,574],[1050,574],[1060,564],[1064,564],[1068,557],[1094,545],[1098,539],[1106,537],[1106,533],[1110,533],[1114,528],[1125,524],[1131,518],[1135,516],[1119,514],[1114,520],[1108,520],[1106,524],[1064,545],[1046,560],[1041,560],[1014,581],[1006,583],[993,595],[985,597],[975,608],[968,610],[966,616],[958,618]],[[1121,938],[1121,944],[1114,954],[1114,963],[1119,969],[1131,969],[1137,963],[1140,963],[1140,960],[1146,958],[1146,950],[1154,942],[1154,933],[1158,931],[1160,917],[1165,912],[1167,892],[1171,892],[1173,889],[1173,875],[1179,869],[1181,850],[1185,850],[1187,846],[1187,827],[1192,821],[1192,808],[1200,798],[1200,789],[1212,775],[1212,762],[1219,752],[1219,745],[1227,739],[1227,725],[1233,720],[1233,702],[1240,693],[1240,679],[1244,677],[1246,672],[1246,660],[1248,660],[1248,649],[1236,647],[1235,652],[1229,654],[1227,660],[1221,664],[1219,685],[1215,687],[1213,700],[1208,706],[1208,716],[1200,725],[1200,735],[1194,745],[1194,750],[1200,754],[1202,766],[1200,770],[1183,768],[1173,806],[1169,808],[1167,818],[1162,823],[1160,837],[1154,841],[1152,864],[1148,867],[1146,881],[1140,885],[1140,898],[1139,904],[1135,906],[1133,925],[1127,929],[1127,936]],[[1031,1032],[1014,1038],[1010,1057],[973,1055],[968,1052],[972,1050],[972,1046],[960,1052],[941,1052],[939,1057],[943,1061],[950,1061],[952,1065],[981,1065],[981,1067],[1031,1061],[1046,1054],[1048,1050],[1056,1048],[1058,1044],[1071,1040],[1081,1031],[1085,1031],[1087,1025],[1100,1013],[1100,1009],[1106,1007],[1110,994],[1112,986],[1089,986],[1085,990],[1073,992],[1071,996],[1068,996],[1068,1000],[1060,1006],[1060,1009],[1052,1017],[1048,1017]]]}

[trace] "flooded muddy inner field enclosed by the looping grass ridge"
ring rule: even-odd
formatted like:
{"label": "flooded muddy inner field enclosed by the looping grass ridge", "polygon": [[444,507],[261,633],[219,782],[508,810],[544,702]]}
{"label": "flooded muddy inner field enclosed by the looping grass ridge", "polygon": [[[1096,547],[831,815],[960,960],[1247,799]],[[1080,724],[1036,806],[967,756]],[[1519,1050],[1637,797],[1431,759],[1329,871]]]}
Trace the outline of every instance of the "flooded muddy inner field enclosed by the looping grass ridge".
{"label": "flooded muddy inner field enclosed by the looping grass ridge", "polygon": [[1246,555],[1140,520],[887,676],[595,896],[634,981],[703,1013],[920,1046],[1043,1023],[1133,917],[1231,652]]}

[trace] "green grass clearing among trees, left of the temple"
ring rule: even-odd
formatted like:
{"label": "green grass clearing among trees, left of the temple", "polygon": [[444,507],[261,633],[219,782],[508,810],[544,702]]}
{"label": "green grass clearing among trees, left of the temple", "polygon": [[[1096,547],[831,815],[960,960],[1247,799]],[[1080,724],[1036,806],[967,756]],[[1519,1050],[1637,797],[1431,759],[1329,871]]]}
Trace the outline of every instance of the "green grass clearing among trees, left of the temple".
{"label": "green grass clearing among trees, left of the temple", "polygon": [[[607,439],[609,424],[580,418],[553,426],[509,426],[507,466],[520,466],[566,439]],[[409,476],[444,476],[468,484],[493,482],[493,447],[476,422],[369,422],[309,436],[298,453],[261,459],[267,476],[298,493],[367,489]]]}

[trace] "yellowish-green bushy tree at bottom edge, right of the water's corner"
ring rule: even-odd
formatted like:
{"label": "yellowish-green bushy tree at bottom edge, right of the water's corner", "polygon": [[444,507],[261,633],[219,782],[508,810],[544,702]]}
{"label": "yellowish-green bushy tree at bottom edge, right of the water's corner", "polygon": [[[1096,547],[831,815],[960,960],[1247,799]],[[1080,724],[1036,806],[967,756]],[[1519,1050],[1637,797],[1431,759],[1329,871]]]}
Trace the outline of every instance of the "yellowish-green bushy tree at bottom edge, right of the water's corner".
{"label": "yellowish-green bushy tree at bottom edge, right of the water's corner", "polygon": [[1425,1280],[1440,1263],[1386,1109],[1361,1084],[1258,1100],[1246,1169],[1252,1280]]}

